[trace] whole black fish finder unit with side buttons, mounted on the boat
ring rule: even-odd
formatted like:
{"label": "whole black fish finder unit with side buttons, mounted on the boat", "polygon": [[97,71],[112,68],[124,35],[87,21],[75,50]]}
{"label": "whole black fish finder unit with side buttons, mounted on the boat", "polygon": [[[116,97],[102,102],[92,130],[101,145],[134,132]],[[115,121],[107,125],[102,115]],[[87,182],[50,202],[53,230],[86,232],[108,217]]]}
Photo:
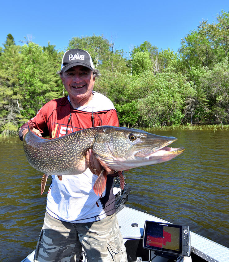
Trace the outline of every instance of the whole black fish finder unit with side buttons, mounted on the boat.
{"label": "whole black fish finder unit with side buttons, mounted on the boat", "polygon": [[189,227],[145,221],[143,248],[165,257],[190,256]]}

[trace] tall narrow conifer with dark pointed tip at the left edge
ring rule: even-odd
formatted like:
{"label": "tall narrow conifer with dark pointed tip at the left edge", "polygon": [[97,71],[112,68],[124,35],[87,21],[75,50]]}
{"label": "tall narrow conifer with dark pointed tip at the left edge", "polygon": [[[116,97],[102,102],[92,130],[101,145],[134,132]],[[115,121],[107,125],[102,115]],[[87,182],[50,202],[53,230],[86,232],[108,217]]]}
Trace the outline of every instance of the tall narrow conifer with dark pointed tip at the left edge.
{"label": "tall narrow conifer with dark pointed tip at the left edge", "polygon": [[7,35],[0,56],[0,131],[3,134],[16,134],[21,123],[19,90],[20,47],[16,46],[11,34]]}

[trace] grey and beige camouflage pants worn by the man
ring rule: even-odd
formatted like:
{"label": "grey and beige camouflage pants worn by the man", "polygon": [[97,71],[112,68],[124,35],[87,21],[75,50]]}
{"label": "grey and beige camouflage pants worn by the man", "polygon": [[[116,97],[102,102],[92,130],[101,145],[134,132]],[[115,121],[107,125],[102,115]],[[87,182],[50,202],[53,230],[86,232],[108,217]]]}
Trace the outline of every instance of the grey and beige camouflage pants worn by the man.
{"label": "grey and beige camouflage pants worn by the man", "polygon": [[78,262],[82,246],[89,262],[127,262],[116,214],[76,224],[55,219],[47,212],[34,262]]}

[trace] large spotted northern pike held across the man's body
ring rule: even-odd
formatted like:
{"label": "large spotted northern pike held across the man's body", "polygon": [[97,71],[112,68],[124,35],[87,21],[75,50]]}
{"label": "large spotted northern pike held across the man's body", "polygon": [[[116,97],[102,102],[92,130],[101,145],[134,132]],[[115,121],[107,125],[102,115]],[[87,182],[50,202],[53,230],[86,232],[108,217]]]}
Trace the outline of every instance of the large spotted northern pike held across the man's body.
{"label": "large spotted northern pike held across the man's body", "polygon": [[[178,156],[184,152],[183,147],[167,147],[175,140],[175,137],[154,135],[140,129],[112,126],[91,127],[45,139],[28,128],[23,145],[29,164],[45,173],[41,180],[42,194],[49,175],[58,175],[61,180],[62,175],[83,173],[87,169],[85,156],[89,149],[100,162],[122,171],[166,162]],[[105,188],[106,175],[101,172],[93,189],[101,195]]]}

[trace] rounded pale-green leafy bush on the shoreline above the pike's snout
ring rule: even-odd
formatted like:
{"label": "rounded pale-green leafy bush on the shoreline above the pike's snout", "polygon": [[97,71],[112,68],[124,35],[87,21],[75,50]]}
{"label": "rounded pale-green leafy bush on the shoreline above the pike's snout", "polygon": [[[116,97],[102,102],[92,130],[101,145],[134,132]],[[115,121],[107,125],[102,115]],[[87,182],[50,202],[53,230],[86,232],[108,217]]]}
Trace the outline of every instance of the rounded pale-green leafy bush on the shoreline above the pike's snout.
{"label": "rounded pale-green leafy bush on the shoreline above the pike's snout", "polygon": [[[143,77],[143,75],[141,75]],[[138,111],[141,115],[140,126],[180,124],[184,114],[185,99],[195,91],[181,73],[164,72],[147,75],[145,86],[147,95],[138,99]],[[146,81],[145,81],[146,82]]]}

